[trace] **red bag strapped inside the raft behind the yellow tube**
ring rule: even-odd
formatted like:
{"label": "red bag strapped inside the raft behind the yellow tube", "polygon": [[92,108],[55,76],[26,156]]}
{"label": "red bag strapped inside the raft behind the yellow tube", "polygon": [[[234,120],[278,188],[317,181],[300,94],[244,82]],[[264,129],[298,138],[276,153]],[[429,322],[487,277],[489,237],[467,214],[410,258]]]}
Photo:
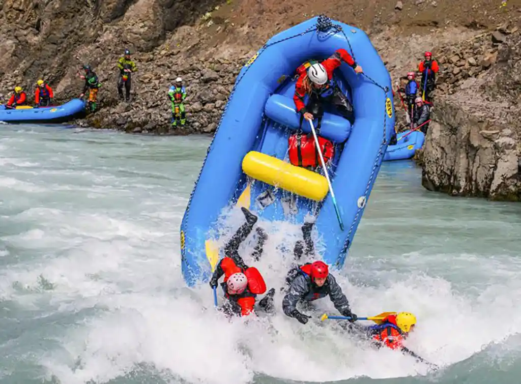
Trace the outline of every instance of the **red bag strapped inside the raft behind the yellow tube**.
{"label": "red bag strapped inside the raft behind the yellow tube", "polygon": [[[330,140],[318,137],[320,152],[324,157],[324,162],[328,162],[334,156],[334,146]],[[316,168],[320,165],[320,157],[316,151],[315,139],[313,135],[301,135],[295,133],[288,139],[290,163],[297,167]]]}

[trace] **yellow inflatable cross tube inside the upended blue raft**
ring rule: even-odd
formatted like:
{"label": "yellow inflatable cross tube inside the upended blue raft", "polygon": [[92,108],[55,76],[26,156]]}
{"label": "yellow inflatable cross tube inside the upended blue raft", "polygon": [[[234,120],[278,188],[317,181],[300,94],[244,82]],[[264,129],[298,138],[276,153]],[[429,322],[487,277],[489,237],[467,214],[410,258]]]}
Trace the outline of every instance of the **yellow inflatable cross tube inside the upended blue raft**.
{"label": "yellow inflatable cross tube inside the upended blue raft", "polygon": [[321,201],[328,192],[324,176],[264,153],[251,151],[242,160],[243,172],[256,180],[308,199]]}

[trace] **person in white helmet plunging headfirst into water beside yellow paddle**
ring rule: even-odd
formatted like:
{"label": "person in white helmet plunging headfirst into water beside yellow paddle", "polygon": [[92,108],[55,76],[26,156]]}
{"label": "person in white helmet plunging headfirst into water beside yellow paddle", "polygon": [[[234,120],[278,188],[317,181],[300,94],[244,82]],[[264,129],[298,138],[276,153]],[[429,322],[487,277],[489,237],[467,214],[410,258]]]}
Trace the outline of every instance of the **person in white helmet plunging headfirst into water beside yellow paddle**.
{"label": "person in white helmet plunging headfirst into water beside yellow paddle", "polygon": [[[245,265],[238,253],[239,245],[246,240],[257,222],[257,216],[246,208],[241,209],[246,217],[246,222],[225,245],[226,256],[217,264],[209,282],[210,287],[215,288],[219,279],[224,275],[225,278],[224,282],[221,283],[221,287],[225,293],[226,300],[222,309],[229,316],[247,316],[254,313],[257,295],[266,292],[266,283],[261,272],[255,267]],[[258,259],[261,255],[266,239],[266,233],[257,227],[257,245],[252,255],[254,259]],[[265,297],[259,301],[259,307],[266,312],[271,312],[274,294],[275,289],[270,289]]]}

